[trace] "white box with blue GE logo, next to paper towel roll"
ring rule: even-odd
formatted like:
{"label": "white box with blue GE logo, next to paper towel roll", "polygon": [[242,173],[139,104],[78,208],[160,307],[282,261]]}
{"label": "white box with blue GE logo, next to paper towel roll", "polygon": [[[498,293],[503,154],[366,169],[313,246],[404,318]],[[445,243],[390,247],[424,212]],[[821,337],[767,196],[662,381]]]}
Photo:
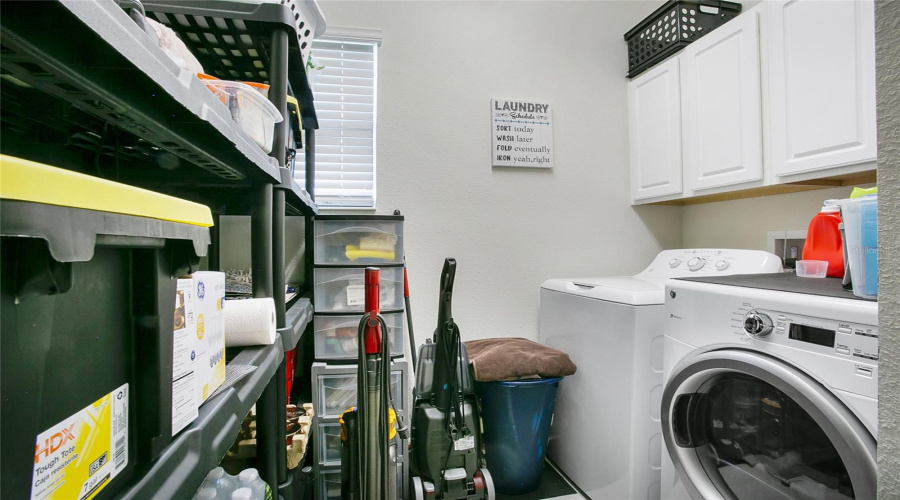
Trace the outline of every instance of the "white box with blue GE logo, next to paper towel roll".
{"label": "white box with blue GE logo, next to paper towel roll", "polygon": [[225,273],[198,271],[194,281],[198,404],[225,381]]}

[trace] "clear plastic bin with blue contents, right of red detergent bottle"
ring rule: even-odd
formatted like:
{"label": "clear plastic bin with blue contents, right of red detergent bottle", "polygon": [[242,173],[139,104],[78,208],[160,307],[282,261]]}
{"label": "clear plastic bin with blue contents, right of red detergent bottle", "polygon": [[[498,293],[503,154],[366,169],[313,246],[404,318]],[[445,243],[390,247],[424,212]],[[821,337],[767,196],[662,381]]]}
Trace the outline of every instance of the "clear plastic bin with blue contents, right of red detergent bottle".
{"label": "clear plastic bin with blue contents, right of red detergent bottle", "polygon": [[878,195],[841,200],[844,245],[853,280],[853,294],[878,296]]}

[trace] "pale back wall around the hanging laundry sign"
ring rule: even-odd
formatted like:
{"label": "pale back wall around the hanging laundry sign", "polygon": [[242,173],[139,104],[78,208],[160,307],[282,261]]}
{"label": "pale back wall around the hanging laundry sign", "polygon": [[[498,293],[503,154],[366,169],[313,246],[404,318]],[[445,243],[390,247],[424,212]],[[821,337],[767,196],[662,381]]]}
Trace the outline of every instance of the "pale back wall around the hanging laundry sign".
{"label": "pale back wall around the hanging laundry sign", "polygon": [[[384,33],[377,213],[406,215],[419,342],[445,257],[463,340],[537,339],[544,280],[634,274],[679,246],[681,209],[628,195],[622,35],[658,3],[319,2]],[[552,170],[491,168],[491,98],[552,105]]]}

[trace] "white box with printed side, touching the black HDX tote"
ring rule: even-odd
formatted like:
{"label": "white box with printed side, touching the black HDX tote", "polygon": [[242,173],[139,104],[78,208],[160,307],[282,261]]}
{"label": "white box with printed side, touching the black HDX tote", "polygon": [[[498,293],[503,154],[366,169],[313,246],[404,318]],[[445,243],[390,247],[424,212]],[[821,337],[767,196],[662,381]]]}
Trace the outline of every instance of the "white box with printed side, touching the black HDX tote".
{"label": "white box with printed side, touching the black HDX tote", "polygon": [[172,338],[172,435],[197,418],[197,330],[194,317],[194,280],[181,278],[175,288]]}

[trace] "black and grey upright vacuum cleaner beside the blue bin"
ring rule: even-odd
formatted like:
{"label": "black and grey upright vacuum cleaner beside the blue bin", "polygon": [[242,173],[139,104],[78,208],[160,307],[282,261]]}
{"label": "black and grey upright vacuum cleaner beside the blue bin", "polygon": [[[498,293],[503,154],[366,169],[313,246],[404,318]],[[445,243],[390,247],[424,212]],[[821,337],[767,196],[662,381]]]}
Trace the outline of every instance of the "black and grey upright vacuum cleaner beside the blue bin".
{"label": "black and grey upright vacuum cleaner beside the blue bin", "polygon": [[456,260],[446,259],[434,341],[419,349],[412,419],[412,490],[421,499],[495,498],[482,467],[480,419],[469,357],[450,303]]}

